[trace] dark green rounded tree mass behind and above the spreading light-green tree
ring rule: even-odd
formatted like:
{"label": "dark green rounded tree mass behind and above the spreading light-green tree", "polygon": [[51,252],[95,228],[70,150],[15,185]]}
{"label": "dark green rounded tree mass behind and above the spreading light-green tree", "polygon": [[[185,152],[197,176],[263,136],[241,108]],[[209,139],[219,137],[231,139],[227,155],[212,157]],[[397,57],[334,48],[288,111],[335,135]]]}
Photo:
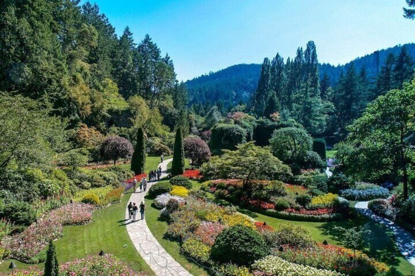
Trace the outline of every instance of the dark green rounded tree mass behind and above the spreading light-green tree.
{"label": "dark green rounded tree mass behind and above the spreading light-green tree", "polygon": [[223,149],[236,149],[246,142],[247,133],[238,125],[218,124],[211,129],[209,146],[213,154],[220,154]]}

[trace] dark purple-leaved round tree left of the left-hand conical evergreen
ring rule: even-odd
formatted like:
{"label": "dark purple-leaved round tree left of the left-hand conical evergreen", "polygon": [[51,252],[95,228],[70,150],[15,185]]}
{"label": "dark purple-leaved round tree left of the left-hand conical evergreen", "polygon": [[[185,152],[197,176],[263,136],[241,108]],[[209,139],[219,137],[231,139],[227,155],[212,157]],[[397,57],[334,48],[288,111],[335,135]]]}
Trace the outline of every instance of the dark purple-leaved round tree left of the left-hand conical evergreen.
{"label": "dark purple-leaved round tree left of the left-hand conical evergreen", "polygon": [[101,157],[104,160],[114,160],[119,158],[130,158],[133,153],[133,145],[130,141],[119,136],[107,137],[101,144]]}

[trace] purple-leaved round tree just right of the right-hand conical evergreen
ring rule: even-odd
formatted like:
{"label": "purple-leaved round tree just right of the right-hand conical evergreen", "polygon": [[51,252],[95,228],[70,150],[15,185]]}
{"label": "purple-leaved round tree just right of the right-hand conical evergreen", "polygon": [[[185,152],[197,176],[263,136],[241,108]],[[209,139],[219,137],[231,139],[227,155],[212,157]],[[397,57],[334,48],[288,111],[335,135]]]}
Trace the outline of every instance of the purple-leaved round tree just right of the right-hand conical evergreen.
{"label": "purple-leaved round tree just right of the right-hand conical evergreen", "polygon": [[200,138],[184,138],[184,157],[189,158],[194,165],[202,165],[210,159],[208,144]]}

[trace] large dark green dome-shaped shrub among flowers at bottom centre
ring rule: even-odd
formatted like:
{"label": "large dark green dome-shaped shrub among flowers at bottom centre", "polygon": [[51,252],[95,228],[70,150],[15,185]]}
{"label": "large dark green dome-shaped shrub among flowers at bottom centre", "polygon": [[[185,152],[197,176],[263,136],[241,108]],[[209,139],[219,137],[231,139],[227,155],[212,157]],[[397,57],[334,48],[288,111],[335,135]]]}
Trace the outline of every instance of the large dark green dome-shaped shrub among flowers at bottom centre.
{"label": "large dark green dome-shaped shrub among flowers at bottom centre", "polygon": [[236,225],[219,234],[210,252],[212,259],[222,263],[251,265],[267,255],[263,237],[247,226]]}

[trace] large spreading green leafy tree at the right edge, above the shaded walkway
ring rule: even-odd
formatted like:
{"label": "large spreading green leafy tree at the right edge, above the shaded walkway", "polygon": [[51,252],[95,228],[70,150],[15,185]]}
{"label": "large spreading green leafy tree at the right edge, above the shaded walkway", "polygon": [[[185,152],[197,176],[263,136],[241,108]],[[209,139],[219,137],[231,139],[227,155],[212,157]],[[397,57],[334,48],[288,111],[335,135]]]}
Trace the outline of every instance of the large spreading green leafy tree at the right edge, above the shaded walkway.
{"label": "large spreading green leafy tree at the right edge, above the shaded walkway", "polygon": [[338,154],[345,172],[356,179],[403,182],[406,199],[408,170],[415,165],[415,80],[379,96],[348,130]]}

